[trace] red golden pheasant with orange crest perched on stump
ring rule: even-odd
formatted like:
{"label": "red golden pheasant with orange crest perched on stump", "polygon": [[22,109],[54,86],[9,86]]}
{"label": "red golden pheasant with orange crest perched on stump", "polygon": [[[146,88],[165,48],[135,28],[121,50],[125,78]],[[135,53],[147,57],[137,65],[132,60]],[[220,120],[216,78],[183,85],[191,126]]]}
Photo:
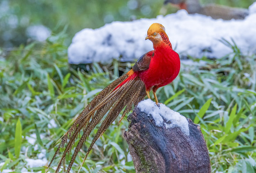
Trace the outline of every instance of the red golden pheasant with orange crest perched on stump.
{"label": "red golden pheasant with orange crest perched on stump", "polygon": [[47,170],[59,154],[60,148],[64,148],[66,144],[65,150],[63,149],[62,157],[58,162],[56,173],[58,173],[62,164],[65,171],[65,157],[71,152],[71,148],[74,146],[76,139],[78,139],[80,133],[83,132],[81,133],[83,135],[75,146],[71,161],[69,162],[67,168],[67,173],[69,173],[87,137],[91,134],[96,125],[100,123],[107,112],[107,116],[100,124],[96,135],[87,149],[83,163],[96,140],[114,122],[122,110],[124,111],[120,121],[131,111],[133,105],[136,106],[146,96],[150,99],[149,92],[151,90],[153,91],[156,104],[158,104],[156,90],[161,86],[170,84],[177,77],[180,72],[180,57],[179,54],[172,49],[169,37],[165,32],[165,27],[161,24],[154,23],[150,25],[145,40],[152,41],[154,50],[143,54],[128,73],[114,80],[114,82],[106,86],[92,99],[76,118],[70,129],[61,137],[61,142]]}

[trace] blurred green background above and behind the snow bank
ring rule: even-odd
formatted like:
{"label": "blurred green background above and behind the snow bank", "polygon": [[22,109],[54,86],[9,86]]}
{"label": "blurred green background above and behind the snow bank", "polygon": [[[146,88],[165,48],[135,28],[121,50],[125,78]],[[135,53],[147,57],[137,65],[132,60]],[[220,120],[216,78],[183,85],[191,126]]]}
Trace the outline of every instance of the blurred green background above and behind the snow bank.
{"label": "blurred green background above and behind the snow bank", "polygon": [[[201,0],[248,8],[255,0]],[[177,9],[164,0],[0,0],[0,47],[28,44],[28,26],[43,25],[59,33],[67,26],[66,44],[83,28],[98,28],[112,21],[130,21],[166,15]],[[36,28],[39,30],[40,28]],[[42,27],[41,27],[42,29]]]}

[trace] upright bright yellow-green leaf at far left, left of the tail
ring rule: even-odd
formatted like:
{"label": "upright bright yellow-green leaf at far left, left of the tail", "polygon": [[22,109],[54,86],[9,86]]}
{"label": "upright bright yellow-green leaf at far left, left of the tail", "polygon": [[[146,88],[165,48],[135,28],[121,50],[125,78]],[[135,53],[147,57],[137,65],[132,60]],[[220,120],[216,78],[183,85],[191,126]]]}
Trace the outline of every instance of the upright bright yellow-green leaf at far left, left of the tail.
{"label": "upright bright yellow-green leaf at far left, left of the tail", "polygon": [[15,138],[14,138],[14,151],[17,159],[19,158],[21,142],[22,142],[21,134],[22,134],[22,128],[21,128],[20,120],[18,119],[16,123]]}

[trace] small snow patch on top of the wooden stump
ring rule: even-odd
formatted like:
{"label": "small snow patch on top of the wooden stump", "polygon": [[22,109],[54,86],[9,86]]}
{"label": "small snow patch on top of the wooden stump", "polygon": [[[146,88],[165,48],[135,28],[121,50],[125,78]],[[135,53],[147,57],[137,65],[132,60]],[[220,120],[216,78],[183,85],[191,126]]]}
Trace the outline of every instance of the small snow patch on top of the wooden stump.
{"label": "small snow patch on top of the wooden stump", "polygon": [[142,112],[152,115],[156,125],[166,128],[180,127],[181,131],[189,136],[189,127],[186,118],[179,112],[172,111],[170,108],[160,103],[159,107],[151,99],[142,100],[137,106]]}

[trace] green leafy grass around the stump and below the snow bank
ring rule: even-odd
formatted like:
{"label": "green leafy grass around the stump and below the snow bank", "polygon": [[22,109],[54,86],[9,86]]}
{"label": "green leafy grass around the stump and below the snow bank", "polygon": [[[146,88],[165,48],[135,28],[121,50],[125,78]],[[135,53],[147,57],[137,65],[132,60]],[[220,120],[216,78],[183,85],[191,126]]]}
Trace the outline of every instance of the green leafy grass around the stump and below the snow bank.
{"label": "green leafy grass around the stump and below the snow bank", "polygon": [[[26,159],[38,159],[45,149],[50,161],[55,142],[74,118],[116,78],[118,65],[113,71],[103,70],[97,63],[90,72],[71,69],[64,40],[61,33],[43,44],[0,50],[0,171],[20,173],[25,167],[44,173],[46,166],[28,167]],[[190,57],[191,63],[182,63],[177,79],[160,88],[157,96],[160,102],[200,124],[213,173],[254,173],[256,55],[243,56],[234,42],[221,41],[233,49],[231,54],[218,60]],[[128,122],[124,119],[117,125],[119,119],[97,141],[83,172],[135,173],[122,136]],[[31,136],[35,136],[34,144],[28,140]],[[76,158],[74,172],[92,137]]]}

